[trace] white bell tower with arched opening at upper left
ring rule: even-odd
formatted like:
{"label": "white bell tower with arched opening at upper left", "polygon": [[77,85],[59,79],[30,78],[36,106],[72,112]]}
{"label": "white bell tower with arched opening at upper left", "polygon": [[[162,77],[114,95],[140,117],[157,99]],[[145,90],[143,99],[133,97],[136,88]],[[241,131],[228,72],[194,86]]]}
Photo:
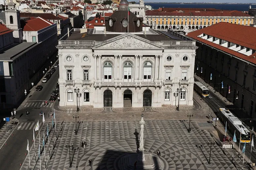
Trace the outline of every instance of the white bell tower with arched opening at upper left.
{"label": "white bell tower with arched opening at upper left", "polygon": [[13,30],[14,42],[21,42],[22,29],[20,28],[19,11],[16,10],[16,4],[12,0],[7,5],[8,9],[5,10],[6,26]]}

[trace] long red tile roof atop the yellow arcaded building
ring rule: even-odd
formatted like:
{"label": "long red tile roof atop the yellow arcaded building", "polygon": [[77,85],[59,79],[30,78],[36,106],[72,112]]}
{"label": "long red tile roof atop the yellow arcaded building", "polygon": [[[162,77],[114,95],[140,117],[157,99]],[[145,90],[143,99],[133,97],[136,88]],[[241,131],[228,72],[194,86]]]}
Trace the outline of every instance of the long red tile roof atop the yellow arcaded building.
{"label": "long red tile roof atop the yellow arcaded building", "polygon": [[[250,16],[241,11],[216,10],[212,8],[160,8],[147,10],[149,16]],[[250,16],[251,17],[251,16]]]}

